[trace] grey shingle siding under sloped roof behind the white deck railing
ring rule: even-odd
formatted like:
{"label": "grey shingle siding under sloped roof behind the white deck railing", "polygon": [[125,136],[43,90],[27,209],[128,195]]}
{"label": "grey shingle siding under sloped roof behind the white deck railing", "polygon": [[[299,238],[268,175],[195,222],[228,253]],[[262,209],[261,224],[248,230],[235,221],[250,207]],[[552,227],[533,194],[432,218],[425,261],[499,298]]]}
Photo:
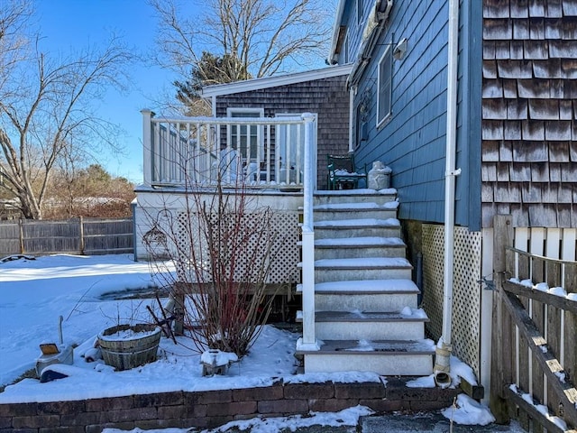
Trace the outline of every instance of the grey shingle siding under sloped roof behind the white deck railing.
{"label": "grey shingle siding under sloped roof behind the white deck railing", "polygon": [[276,88],[261,88],[216,98],[216,115],[228,107],[264,108],[264,115],[317,113],[317,180],[326,189],[326,154],[349,150],[349,95],[346,75]]}

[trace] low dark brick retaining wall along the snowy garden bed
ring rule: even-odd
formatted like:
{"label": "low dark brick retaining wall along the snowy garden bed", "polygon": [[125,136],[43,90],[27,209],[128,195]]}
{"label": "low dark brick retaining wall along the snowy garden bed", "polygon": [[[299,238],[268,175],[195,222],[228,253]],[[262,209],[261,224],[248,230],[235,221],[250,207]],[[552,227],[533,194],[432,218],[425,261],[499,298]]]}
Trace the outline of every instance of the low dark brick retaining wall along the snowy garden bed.
{"label": "low dark brick retaining wall along the snowy garden bed", "polygon": [[99,433],[104,428],[214,428],[234,419],[334,412],[361,404],[376,412],[449,407],[460,390],[380,382],[284,383],[208,392],[162,392],[87,401],[0,405],[0,433]]}

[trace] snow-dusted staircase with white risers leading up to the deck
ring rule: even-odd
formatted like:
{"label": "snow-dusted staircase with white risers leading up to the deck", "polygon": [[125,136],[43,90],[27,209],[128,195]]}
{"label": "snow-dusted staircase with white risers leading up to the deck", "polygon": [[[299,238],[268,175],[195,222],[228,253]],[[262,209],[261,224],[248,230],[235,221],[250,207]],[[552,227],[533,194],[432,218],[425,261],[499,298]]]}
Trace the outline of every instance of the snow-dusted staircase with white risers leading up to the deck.
{"label": "snow-dusted staircase with white risers leading up to the deck", "polygon": [[320,350],[297,351],[305,373],[433,373],[435,346],[425,339],[426,313],[417,309],[395,194],[318,191],[314,201]]}

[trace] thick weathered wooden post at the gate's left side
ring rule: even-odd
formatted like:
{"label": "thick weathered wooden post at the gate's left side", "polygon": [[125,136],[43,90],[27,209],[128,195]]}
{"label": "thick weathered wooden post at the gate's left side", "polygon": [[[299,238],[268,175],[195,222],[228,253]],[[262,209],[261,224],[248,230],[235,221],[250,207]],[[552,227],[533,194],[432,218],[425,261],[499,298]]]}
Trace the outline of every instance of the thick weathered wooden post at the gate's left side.
{"label": "thick weathered wooden post at the gate's left side", "polygon": [[491,336],[490,410],[499,424],[509,421],[505,387],[511,383],[512,333],[511,318],[503,304],[502,284],[507,278],[506,250],[513,245],[513,224],[510,215],[493,218],[493,327]]}

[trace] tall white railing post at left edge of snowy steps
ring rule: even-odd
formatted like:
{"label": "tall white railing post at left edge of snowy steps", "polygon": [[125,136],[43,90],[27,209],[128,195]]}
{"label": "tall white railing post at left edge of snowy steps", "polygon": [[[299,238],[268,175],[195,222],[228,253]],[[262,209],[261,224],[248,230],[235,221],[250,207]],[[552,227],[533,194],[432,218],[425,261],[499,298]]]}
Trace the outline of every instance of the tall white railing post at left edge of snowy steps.
{"label": "tall white railing post at left edge of snowy steps", "polygon": [[305,113],[305,176],[303,184],[303,226],[302,226],[302,302],[303,336],[298,342],[300,350],[318,350],[315,335],[315,231],[313,226],[313,178],[315,115]]}

